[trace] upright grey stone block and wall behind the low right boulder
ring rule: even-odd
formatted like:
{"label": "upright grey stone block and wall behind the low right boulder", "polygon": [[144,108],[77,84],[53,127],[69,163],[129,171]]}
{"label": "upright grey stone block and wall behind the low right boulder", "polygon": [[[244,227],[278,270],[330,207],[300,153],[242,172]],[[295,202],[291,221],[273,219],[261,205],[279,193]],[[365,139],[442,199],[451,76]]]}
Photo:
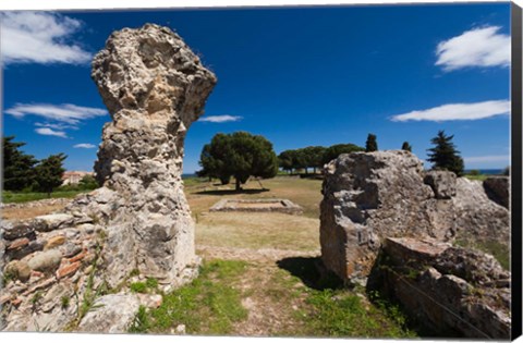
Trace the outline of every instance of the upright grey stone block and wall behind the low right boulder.
{"label": "upright grey stone block and wall behind the low right boulder", "polygon": [[321,258],[346,282],[365,281],[386,237],[451,241],[463,232],[509,242],[509,211],[481,182],[425,173],[409,151],[341,155],[326,166],[321,192]]}

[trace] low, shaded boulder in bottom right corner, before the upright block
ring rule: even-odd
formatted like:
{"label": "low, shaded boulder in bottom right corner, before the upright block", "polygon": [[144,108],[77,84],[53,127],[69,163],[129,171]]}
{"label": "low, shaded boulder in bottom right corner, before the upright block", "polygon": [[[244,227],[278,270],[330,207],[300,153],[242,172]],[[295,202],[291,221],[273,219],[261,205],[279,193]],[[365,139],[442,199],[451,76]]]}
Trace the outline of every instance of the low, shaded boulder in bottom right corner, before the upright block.
{"label": "low, shaded boulder in bottom right corner, before the upright block", "polygon": [[387,238],[384,254],[373,278],[435,334],[510,338],[510,289],[487,285],[510,273],[491,256],[414,238]]}

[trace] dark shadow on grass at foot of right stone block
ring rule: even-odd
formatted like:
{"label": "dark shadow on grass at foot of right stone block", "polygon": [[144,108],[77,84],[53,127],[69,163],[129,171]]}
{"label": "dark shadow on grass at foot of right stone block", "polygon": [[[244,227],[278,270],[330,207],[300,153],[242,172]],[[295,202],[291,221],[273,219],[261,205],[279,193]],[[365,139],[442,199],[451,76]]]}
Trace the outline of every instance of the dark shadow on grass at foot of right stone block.
{"label": "dark shadow on grass at foot of right stone block", "polygon": [[276,265],[313,290],[336,290],[343,286],[343,282],[324,267],[319,257],[287,257]]}

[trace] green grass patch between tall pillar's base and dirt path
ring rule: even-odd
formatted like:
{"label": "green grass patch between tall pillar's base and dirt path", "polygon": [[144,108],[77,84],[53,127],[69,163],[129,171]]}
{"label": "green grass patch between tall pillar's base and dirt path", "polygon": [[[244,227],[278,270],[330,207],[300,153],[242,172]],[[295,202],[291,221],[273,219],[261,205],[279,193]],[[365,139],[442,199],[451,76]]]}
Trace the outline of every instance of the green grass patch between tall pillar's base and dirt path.
{"label": "green grass patch between tall pillar's base and dirt path", "polygon": [[183,323],[188,334],[230,333],[233,323],[247,316],[240,291],[231,286],[244,268],[243,261],[205,264],[191,284],[165,294],[159,308],[141,309],[130,332],[170,332]]}

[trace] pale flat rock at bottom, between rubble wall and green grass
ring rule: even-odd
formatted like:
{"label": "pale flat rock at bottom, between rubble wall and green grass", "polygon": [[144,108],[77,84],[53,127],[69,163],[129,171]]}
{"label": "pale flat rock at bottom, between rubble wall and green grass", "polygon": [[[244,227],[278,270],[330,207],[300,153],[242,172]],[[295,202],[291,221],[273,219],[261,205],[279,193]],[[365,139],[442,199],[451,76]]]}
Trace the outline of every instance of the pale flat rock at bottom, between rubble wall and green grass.
{"label": "pale flat rock at bottom, between rubble wall and green grass", "polygon": [[78,326],[80,332],[126,333],[138,311],[134,295],[110,294],[98,298]]}

